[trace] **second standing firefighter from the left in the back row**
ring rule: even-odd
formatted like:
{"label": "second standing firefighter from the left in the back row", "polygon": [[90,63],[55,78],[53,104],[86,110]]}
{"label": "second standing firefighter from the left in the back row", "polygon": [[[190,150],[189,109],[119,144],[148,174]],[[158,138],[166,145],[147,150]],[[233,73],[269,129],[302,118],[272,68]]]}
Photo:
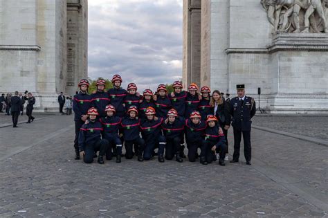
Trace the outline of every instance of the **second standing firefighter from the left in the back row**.
{"label": "second standing firefighter from the left in the back row", "polygon": [[95,86],[97,87],[97,91],[91,95],[92,107],[95,107],[98,110],[99,116],[103,118],[106,116],[104,109],[110,102],[108,93],[104,92],[106,81],[99,79],[95,83]]}

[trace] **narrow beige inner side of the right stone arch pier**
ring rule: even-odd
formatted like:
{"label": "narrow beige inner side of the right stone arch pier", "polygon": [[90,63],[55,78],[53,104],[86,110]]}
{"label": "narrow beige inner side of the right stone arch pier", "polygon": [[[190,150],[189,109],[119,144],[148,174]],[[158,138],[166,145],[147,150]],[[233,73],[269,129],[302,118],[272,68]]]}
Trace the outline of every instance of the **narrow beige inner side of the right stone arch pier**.
{"label": "narrow beige inner side of the right stone arch pier", "polygon": [[183,0],[183,86],[201,83],[201,0]]}

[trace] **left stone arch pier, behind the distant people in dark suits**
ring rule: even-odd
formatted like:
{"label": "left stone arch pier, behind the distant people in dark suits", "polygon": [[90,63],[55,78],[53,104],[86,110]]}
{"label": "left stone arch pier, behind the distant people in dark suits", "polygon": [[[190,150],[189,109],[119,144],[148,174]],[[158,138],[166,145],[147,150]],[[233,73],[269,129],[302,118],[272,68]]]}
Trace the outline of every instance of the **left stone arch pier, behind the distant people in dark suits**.
{"label": "left stone arch pier, behind the distant people in dark suits", "polygon": [[57,111],[87,77],[87,0],[0,0],[0,93],[30,91]]}

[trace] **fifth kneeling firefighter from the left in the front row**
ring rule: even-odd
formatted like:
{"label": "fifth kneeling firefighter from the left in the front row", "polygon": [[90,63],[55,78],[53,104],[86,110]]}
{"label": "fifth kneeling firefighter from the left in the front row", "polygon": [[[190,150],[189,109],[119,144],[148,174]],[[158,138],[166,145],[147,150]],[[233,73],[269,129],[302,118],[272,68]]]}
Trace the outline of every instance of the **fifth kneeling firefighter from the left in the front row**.
{"label": "fifth kneeling firefighter from the left in the front row", "polygon": [[170,109],[170,111],[167,112],[167,119],[163,122],[162,129],[166,139],[165,158],[167,160],[172,160],[175,154],[176,161],[179,163],[183,162],[180,156],[182,147],[180,141],[184,124],[183,121],[179,119],[178,111]]}

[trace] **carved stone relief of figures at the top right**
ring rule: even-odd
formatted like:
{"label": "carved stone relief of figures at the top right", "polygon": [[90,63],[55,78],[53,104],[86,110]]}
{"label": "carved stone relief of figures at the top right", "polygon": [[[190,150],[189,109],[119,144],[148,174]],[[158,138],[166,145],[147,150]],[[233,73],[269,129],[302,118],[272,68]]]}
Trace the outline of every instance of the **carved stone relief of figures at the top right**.
{"label": "carved stone relief of figures at the top right", "polygon": [[261,0],[275,33],[328,33],[328,0]]}

